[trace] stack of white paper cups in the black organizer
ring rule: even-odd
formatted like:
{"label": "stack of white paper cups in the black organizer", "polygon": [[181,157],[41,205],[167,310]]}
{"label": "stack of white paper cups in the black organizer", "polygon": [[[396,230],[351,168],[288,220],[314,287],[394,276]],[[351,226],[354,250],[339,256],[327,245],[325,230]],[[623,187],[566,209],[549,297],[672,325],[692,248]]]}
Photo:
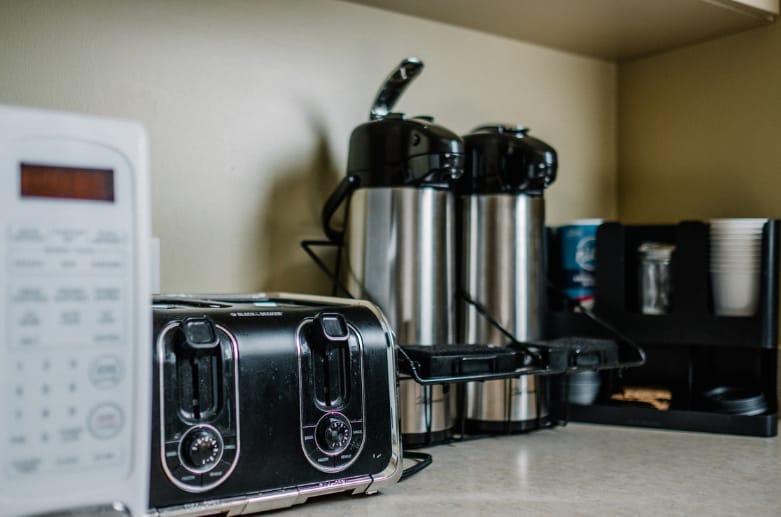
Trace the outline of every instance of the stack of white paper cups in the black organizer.
{"label": "stack of white paper cups in the black organizer", "polygon": [[767,219],[711,219],[710,277],[719,316],[751,316],[759,301],[762,230]]}

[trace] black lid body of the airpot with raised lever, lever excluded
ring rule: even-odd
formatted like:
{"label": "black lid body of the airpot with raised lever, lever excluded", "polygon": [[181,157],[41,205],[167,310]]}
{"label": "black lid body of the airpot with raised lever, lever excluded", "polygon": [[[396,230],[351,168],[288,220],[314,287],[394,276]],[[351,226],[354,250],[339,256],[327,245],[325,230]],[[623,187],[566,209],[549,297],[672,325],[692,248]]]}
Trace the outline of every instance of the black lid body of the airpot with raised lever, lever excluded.
{"label": "black lid body of the airpot with raised lever, lever excluded", "polygon": [[463,173],[464,142],[431,117],[389,113],[356,127],[347,174],[361,187],[447,186]]}

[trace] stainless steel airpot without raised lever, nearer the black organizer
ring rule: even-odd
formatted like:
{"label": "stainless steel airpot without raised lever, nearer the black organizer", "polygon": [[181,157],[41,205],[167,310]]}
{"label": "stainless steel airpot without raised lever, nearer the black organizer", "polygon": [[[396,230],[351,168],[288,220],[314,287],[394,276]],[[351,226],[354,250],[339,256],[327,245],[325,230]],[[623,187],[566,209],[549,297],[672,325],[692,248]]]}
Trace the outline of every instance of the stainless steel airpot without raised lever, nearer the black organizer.
{"label": "stainless steel airpot without raised lever, nearer the black organizer", "polygon": [[[464,136],[457,184],[464,343],[496,346],[543,337],[546,311],[545,200],[556,151],[520,126],[481,126]],[[466,386],[466,430],[535,429],[548,415],[541,377]]]}

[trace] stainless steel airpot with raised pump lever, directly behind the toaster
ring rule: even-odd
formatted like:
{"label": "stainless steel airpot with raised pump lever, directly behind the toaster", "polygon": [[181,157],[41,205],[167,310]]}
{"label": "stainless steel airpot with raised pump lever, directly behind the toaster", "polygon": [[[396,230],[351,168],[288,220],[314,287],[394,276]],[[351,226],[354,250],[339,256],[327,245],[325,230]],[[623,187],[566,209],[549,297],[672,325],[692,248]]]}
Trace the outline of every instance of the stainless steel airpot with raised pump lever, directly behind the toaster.
{"label": "stainless steel airpot with raised pump lever, directly behind the toaster", "polygon": [[[423,63],[408,58],[388,76],[370,121],[350,137],[347,175],[323,208],[323,230],[342,246],[338,276],[352,296],[376,303],[400,345],[455,340],[455,203],[464,144],[431,117],[393,106]],[[345,222],[334,228],[344,207]],[[446,439],[453,426],[448,386],[400,383],[407,444]]]}

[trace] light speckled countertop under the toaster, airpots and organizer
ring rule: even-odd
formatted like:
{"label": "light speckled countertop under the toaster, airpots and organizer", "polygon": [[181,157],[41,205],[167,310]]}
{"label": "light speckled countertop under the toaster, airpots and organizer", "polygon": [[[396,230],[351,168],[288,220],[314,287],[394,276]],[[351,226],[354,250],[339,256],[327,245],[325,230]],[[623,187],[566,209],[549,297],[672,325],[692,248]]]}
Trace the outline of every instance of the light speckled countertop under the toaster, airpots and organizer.
{"label": "light speckled countertop under the toaster, airpots and organizer", "polygon": [[379,494],[274,515],[781,515],[778,437],[570,423],[425,451],[428,468]]}

